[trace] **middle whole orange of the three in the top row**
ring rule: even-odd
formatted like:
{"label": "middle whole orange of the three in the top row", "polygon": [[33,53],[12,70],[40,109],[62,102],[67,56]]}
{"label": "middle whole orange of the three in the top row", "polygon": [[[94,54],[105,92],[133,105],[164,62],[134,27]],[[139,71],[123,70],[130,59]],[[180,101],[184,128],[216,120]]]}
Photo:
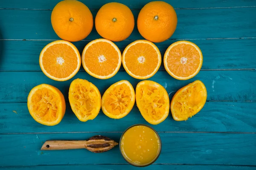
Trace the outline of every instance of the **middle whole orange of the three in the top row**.
{"label": "middle whole orange of the three in the top row", "polygon": [[103,38],[122,41],[134,29],[134,16],[130,8],[122,3],[107,3],[96,14],[95,27]]}

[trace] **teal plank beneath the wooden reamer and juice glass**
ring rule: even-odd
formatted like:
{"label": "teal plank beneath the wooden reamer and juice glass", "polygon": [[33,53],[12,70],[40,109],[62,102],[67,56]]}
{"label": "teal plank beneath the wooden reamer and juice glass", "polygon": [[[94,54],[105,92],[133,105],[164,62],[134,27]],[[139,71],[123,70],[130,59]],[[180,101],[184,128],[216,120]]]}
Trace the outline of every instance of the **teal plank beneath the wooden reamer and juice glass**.
{"label": "teal plank beneath the wooden reamer and juice glass", "polygon": [[[99,124],[100,125],[100,124]],[[122,133],[101,133],[119,141]],[[45,150],[50,139],[88,139],[95,133],[1,135],[0,150],[6,150],[0,166],[58,164],[126,164],[119,147],[105,153],[80,150]],[[229,164],[256,165],[256,134],[160,133],[162,152],[157,164]],[[111,155],[111,156],[110,156]],[[14,157],[15,156],[15,157]],[[15,161],[14,161],[15,160]]]}

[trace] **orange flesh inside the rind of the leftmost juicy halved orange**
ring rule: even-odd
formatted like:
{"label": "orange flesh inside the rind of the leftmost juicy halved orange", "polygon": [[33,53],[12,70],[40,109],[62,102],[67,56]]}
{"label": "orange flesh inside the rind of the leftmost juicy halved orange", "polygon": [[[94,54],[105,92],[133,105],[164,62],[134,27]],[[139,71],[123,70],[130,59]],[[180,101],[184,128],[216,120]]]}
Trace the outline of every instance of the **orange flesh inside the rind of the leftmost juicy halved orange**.
{"label": "orange flesh inside the rind of the leftmost juicy halved orange", "polygon": [[73,48],[63,43],[50,46],[44,52],[42,60],[45,71],[57,78],[69,77],[78,65],[78,59]]}

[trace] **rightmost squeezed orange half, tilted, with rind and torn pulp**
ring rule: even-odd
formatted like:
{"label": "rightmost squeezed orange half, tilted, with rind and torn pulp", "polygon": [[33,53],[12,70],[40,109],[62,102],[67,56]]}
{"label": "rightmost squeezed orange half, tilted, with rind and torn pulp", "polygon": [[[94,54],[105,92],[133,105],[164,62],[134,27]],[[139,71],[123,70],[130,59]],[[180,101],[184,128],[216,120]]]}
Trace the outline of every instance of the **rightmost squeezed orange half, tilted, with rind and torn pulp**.
{"label": "rightmost squeezed orange half, tilted, with rind and torn pulp", "polygon": [[172,98],[171,112],[176,121],[187,120],[198,113],[206,102],[207,91],[200,80],[180,88]]}

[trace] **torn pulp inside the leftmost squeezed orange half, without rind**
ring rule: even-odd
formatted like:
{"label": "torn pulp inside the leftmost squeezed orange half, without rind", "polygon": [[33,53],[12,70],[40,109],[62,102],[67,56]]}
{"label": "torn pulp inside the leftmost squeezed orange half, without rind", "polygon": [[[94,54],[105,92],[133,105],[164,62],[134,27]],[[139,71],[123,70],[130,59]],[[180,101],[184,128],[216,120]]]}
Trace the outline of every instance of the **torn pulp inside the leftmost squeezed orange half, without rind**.
{"label": "torn pulp inside the leftmost squeezed orange half, without rind", "polygon": [[59,96],[48,88],[35,91],[32,96],[32,114],[45,122],[54,122],[58,118]]}

